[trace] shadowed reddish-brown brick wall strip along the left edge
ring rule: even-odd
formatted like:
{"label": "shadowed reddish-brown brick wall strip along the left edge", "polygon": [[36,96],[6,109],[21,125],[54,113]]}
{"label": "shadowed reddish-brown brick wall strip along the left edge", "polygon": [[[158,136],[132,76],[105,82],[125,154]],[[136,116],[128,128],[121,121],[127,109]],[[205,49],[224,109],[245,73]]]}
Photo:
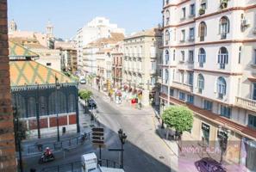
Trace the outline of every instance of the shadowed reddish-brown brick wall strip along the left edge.
{"label": "shadowed reddish-brown brick wall strip along the left edge", "polygon": [[10,101],[7,0],[0,0],[0,171],[16,171],[13,116]]}

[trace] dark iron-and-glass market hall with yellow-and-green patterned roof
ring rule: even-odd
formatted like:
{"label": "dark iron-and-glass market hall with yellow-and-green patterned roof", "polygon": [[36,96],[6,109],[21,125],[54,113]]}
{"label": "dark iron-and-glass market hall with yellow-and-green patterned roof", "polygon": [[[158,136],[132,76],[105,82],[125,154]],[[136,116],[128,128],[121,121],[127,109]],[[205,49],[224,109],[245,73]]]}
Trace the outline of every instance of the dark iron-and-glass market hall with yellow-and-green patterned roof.
{"label": "dark iron-and-glass market hall with yellow-and-green patterned roof", "polygon": [[78,132],[78,83],[34,61],[38,54],[13,42],[9,42],[9,58],[12,105],[30,137],[57,134],[57,120],[60,134],[63,127]]}

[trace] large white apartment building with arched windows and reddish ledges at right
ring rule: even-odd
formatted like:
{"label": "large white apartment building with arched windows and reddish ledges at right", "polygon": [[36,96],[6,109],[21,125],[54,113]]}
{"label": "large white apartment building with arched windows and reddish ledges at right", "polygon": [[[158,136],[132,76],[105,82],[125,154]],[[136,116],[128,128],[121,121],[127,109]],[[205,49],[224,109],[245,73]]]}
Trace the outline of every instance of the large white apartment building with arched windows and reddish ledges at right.
{"label": "large white apartment building with arched windows and reddish ledges at right", "polygon": [[[222,140],[233,153],[226,161],[255,171],[256,2],[164,0],[162,13],[161,111],[190,107],[194,125],[185,139],[211,146]],[[243,147],[247,157],[240,161]]]}

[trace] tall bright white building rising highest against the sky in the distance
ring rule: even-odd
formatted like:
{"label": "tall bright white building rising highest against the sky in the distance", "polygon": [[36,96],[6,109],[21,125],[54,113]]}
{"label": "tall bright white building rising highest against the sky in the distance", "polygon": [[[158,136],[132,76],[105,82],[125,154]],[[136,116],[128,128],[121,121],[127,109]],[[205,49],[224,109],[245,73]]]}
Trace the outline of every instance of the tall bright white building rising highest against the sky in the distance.
{"label": "tall bright white building rising highest against the sky in the distance", "polygon": [[125,34],[125,29],[118,28],[116,24],[109,22],[105,17],[96,17],[83,28],[78,29],[76,35],[76,47],[78,52],[78,68],[83,73],[83,48],[92,41],[109,38],[111,33]]}

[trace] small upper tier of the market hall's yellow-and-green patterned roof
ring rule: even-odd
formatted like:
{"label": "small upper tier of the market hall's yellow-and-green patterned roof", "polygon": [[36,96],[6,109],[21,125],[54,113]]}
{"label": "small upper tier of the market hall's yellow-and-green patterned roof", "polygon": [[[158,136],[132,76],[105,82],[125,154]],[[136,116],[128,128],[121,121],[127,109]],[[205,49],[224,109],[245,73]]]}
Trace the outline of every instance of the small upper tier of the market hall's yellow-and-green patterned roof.
{"label": "small upper tier of the market hall's yellow-and-green patterned roof", "polygon": [[9,41],[9,57],[30,57],[30,58],[34,58],[34,57],[38,57],[39,55],[31,52],[30,50],[28,50],[27,48],[25,48],[24,46],[21,46],[17,43],[14,43],[12,41]]}

